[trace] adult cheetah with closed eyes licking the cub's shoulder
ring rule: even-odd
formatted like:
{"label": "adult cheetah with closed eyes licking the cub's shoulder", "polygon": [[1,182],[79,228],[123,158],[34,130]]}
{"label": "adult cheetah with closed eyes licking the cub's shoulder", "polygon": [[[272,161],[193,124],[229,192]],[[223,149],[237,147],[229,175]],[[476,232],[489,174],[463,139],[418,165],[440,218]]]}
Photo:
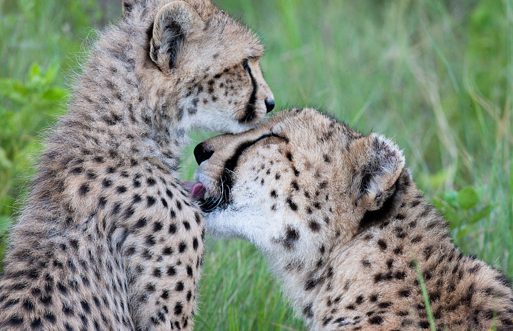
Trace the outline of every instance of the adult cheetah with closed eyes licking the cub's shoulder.
{"label": "adult cheetah with closed eyes licking the cub's shoulder", "polygon": [[[513,329],[508,278],[464,256],[402,152],[311,109],[196,147],[207,230],[250,240],[312,330]],[[215,201],[219,200],[219,201]]]}

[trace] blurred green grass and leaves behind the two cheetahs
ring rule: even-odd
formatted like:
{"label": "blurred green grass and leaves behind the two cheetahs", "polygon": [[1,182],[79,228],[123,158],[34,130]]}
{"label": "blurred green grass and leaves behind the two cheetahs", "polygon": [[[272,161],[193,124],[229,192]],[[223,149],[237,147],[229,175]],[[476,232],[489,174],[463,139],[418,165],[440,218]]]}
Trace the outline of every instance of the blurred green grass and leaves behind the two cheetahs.
{"label": "blurred green grass and leaves behind the two cheetahs", "polygon": [[[393,137],[461,249],[513,275],[513,0],[214,3],[263,37],[278,108]],[[120,13],[121,0],[0,0],[0,259],[84,41]],[[191,148],[183,165],[190,179]],[[197,329],[304,329],[258,251],[207,244]]]}

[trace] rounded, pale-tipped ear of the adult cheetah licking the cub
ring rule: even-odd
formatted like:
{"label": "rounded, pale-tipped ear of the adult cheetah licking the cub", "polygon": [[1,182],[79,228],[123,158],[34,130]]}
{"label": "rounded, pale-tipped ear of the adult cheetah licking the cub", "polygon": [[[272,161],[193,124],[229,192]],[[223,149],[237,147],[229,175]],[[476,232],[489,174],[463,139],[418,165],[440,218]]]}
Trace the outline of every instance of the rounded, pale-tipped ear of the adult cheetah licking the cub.
{"label": "rounded, pale-tipped ear of the adult cheetah licking the cub", "polygon": [[352,146],[355,173],[351,197],[365,210],[378,210],[395,191],[404,169],[404,156],[392,141],[372,133]]}

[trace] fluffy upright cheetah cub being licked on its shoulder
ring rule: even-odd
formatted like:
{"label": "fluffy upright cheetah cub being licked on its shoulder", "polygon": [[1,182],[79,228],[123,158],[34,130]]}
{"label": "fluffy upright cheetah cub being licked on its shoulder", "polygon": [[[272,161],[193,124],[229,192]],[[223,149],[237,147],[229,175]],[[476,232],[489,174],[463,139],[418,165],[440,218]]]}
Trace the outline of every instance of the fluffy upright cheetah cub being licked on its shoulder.
{"label": "fluffy upright cheetah cub being licked on its shoulder", "polygon": [[262,46],[207,0],[132,0],[100,35],[48,140],[0,280],[2,330],[191,329],[203,216],[186,131],[272,109]]}

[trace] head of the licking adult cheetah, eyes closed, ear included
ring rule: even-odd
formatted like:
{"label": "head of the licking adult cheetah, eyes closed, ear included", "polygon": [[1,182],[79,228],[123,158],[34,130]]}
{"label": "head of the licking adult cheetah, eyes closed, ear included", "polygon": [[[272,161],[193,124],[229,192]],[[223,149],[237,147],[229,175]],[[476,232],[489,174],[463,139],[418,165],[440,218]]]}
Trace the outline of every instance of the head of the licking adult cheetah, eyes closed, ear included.
{"label": "head of the licking adult cheetah, eyes closed, ear included", "polygon": [[303,264],[311,252],[349,241],[365,213],[391,200],[404,168],[391,141],[312,109],[208,139],[195,156],[196,180],[212,196],[205,203],[207,230]]}

